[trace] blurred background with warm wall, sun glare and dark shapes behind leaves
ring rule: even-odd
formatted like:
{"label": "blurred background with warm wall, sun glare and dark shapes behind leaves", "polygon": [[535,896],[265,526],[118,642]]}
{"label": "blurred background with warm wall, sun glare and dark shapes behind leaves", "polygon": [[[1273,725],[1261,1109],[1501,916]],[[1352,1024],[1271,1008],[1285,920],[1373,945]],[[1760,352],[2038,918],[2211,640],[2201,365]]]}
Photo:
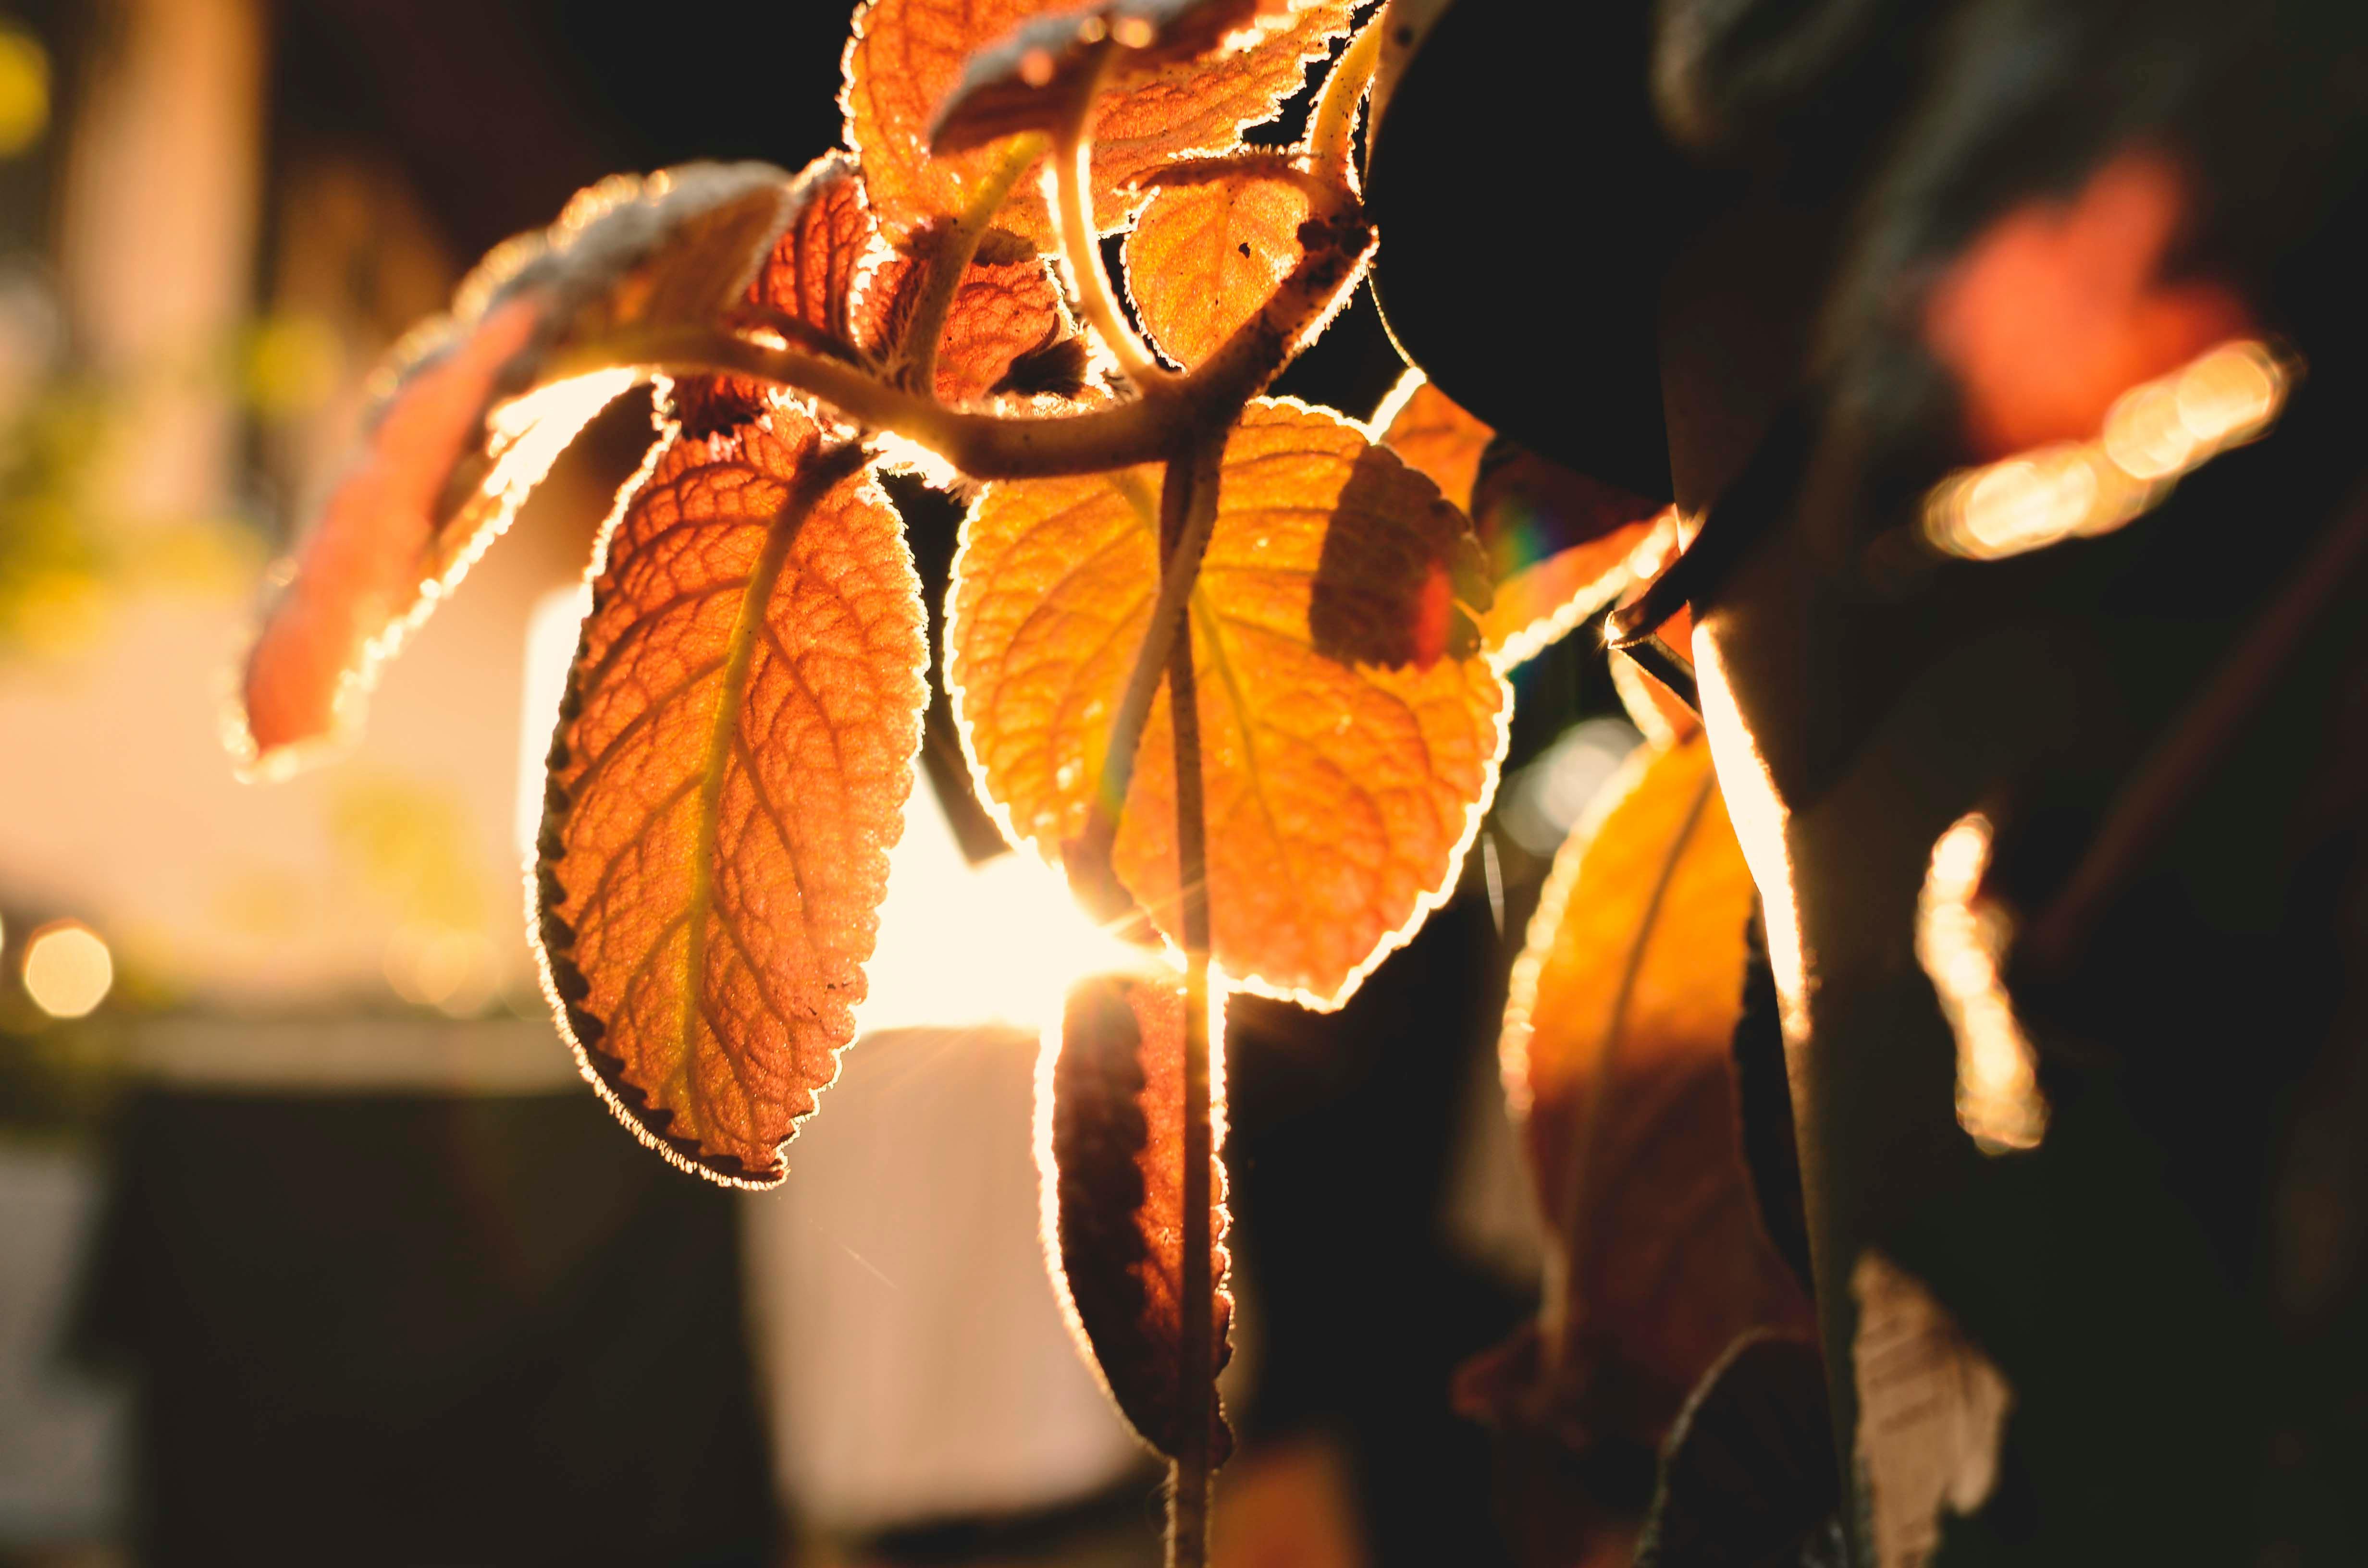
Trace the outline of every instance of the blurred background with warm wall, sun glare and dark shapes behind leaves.
{"label": "blurred background with warm wall, sun glare and dark shapes behind leaves", "polygon": [[[0,1563],[1158,1561],[1035,1232],[1037,1026],[1101,947],[995,853],[942,699],[784,1189],[663,1165],[549,1026],[519,867],[646,400],[353,756],[242,786],[218,737],[391,341],[604,173],[834,147],[843,33],[838,0],[0,0]],[[1399,372],[1359,298],[1283,391],[1362,417]],[[952,512],[900,500],[942,587]],[[1234,1568],[1511,1561],[1523,1459],[1449,1409],[1537,1291],[1497,1018],[1636,741],[1601,656],[1518,687],[1454,902],[1340,1014],[1231,1016]]]}

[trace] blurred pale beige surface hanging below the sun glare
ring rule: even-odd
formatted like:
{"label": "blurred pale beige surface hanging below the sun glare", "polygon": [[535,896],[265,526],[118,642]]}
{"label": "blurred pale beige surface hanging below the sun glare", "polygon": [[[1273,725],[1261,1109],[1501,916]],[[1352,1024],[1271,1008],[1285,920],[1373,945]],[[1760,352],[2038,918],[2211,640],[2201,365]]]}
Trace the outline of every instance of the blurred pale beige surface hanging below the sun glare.
{"label": "blurred pale beige surface hanging below the sun glare", "polygon": [[789,1182],[746,1201],[774,1464],[817,1528],[1058,1506],[1141,1464],[1044,1277],[1035,1049],[864,1037]]}

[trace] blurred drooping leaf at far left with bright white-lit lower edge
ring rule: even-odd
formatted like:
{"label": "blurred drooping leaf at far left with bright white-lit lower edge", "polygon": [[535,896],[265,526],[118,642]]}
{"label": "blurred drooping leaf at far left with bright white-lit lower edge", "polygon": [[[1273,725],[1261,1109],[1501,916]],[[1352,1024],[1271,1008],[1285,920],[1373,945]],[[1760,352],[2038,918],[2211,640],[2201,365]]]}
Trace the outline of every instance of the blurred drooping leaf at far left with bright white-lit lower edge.
{"label": "blurred drooping leaf at far left with bright white-lit lower edge", "polygon": [[509,526],[568,441],[635,381],[599,372],[538,386],[554,355],[713,322],[805,189],[770,163],[604,180],[547,232],[495,249],[459,287],[452,315],[395,348],[379,372],[367,445],[249,656],[234,734],[246,763],[284,772],[298,748],[358,722],[377,666]]}

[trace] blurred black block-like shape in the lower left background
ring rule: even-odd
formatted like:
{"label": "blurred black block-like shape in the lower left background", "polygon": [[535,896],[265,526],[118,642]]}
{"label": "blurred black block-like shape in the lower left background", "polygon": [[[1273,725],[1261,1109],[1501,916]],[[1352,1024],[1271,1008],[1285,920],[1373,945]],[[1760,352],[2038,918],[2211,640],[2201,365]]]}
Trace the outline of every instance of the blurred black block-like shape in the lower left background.
{"label": "blurred black block-like shape in the lower left background", "polygon": [[729,1194],[590,1094],[142,1097],[85,1352],[170,1563],[767,1563]]}

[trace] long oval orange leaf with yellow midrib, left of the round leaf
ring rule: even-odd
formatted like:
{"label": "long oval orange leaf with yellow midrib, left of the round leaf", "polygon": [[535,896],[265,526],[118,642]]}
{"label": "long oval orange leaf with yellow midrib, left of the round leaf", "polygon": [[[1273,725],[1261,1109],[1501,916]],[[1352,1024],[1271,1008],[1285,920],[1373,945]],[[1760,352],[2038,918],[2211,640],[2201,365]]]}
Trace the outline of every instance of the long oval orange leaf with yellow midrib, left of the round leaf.
{"label": "long oval orange leaf with yellow midrib, left of the round leaf", "polygon": [[542,820],[538,940],[651,1146],[772,1184],[855,1035],[926,689],[919,580],[789,403],[675,433],[604,542]]}

